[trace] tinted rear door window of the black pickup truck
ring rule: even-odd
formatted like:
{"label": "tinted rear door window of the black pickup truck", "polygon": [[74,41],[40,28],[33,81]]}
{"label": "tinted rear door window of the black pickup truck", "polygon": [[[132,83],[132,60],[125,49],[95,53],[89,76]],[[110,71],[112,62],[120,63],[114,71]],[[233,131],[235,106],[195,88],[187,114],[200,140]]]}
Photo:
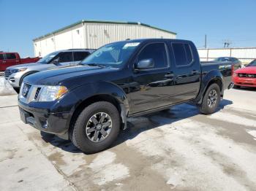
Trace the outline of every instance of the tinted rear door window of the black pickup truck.
{"label": "tinted rear door window of the black pickup truck", "polygon": [[172,43],[176,66],[186,66],[193,61],[189,44]]}

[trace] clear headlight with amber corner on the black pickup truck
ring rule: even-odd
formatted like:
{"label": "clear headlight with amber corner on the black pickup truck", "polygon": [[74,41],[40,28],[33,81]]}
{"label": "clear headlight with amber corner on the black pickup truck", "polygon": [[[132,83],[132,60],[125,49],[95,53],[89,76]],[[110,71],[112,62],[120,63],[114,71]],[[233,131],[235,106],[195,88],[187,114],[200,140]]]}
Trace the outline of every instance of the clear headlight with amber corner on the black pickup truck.
{"label": "clear headlight with amber corner on the black pickup truck", "polygon": [[67,87],[64,86],[45,86],[39,95],[38,101],[55,101],[67,93]]}

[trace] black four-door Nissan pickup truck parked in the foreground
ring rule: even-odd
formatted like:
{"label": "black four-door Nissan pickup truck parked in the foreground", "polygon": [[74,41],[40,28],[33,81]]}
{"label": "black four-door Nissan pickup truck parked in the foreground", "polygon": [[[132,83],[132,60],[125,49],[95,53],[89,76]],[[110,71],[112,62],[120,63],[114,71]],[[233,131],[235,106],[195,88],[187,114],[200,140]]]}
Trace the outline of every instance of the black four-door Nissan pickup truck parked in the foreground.
{"label": "black four-door Nissan pickup truck parked in the foreground", "polygon": [[217,110],[234,66],[200,63],[195,45],[178,39],[135,39],[100,47],[80,66],[31,74],[18,103],[23,122],[71,139],[86,153],[110,147],[127,117],[184,102]]}

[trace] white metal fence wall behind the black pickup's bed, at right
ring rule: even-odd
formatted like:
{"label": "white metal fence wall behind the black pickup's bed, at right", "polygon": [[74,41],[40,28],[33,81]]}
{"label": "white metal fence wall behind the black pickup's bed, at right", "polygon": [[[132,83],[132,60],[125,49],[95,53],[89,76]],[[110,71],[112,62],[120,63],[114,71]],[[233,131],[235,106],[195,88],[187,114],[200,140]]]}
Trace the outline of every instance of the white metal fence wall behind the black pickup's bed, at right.
{"label": "white metal fence wall behind the black pickup's bed, at right", "polygon": [[198,49],[201,61],[211,61],[214,58],[231,56],[238,58],[246,64],[256,59],[256,47],[250,48],[219,48],[219,49]]}

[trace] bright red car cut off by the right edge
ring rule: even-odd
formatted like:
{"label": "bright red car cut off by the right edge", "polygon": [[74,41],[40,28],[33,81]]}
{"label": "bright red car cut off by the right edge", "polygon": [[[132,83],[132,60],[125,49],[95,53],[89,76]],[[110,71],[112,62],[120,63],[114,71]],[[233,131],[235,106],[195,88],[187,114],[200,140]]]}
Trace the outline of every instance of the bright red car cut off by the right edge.
{"label": "bright red car cut off by the right edge", "polygon": [[256,60],[245,68],[234,71],[232,79],[235,87],[256,87]]}

